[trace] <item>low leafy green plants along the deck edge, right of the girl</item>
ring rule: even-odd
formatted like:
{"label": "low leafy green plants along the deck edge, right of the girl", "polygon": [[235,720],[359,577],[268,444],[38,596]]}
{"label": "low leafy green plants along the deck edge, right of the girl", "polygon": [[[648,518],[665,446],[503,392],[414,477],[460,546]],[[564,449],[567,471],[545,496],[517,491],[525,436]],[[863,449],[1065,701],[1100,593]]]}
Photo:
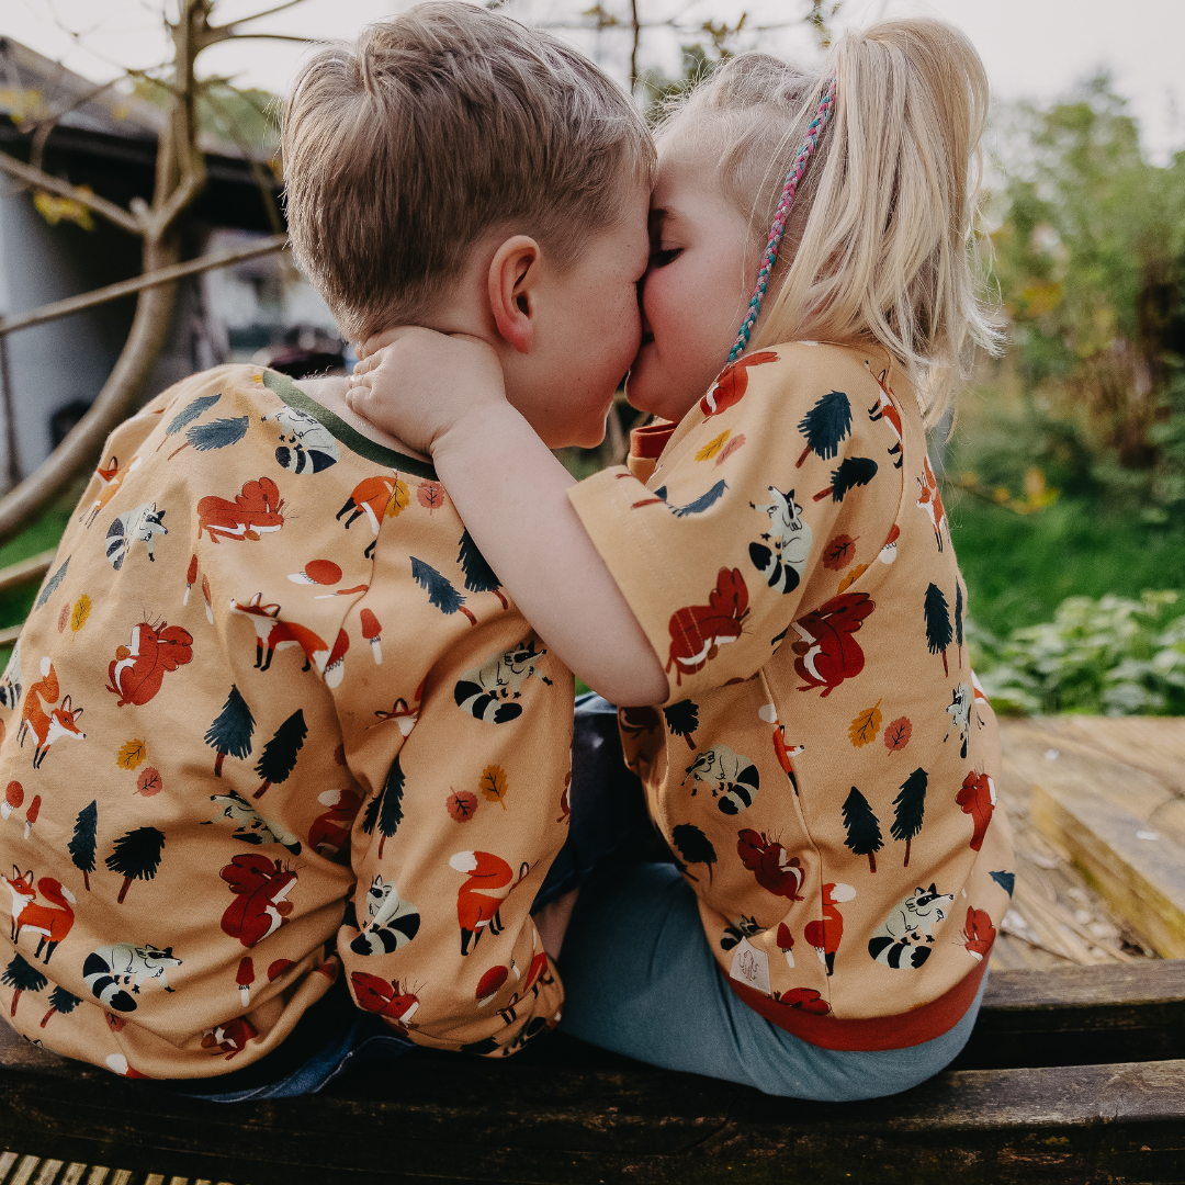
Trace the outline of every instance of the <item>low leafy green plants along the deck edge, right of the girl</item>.
{"label": "low leafy green plants along the deck edge, right of the girl", "polygon": [[972,662],[992,705],[1008,715],[1185,715],[1185,616],[1177,592],[1139,601],[1066,597],[1051,622],[1006,641],[967,622]]}

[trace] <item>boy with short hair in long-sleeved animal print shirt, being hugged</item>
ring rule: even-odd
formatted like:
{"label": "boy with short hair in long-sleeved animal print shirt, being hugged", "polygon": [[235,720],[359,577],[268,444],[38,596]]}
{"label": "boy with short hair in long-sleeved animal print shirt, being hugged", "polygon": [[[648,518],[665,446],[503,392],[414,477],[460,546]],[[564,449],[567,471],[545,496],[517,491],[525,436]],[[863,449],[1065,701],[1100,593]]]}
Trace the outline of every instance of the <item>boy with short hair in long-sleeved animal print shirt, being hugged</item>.
{"label": "boy with short hair in long-sleeved animal print shirt, being hugged", "polygon": [[[483,337],[540,436],[600,440],[654,158],[595,66],[424,4],[305,68],[284,160],[348,337]],[[342,971],[437,1049],[558,1017],[529,911],[565,834],[571,674],[345,389],[219,367],[118,428],[9,664],[2,981],[69,1057],[316,1089],[357,1048],[326,1052],[325,1005],[276,1051]]]}

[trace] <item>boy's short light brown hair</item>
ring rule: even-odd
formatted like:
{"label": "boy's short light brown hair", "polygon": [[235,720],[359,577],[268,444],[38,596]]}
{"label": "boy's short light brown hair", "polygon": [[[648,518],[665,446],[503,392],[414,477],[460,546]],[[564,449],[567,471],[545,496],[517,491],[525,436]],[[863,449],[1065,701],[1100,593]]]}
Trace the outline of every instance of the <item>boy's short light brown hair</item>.
{"label": "boy's short light brown hair", "polygon": [[505,226],[561,265],[611,225],[654,147],[629,97],[556,38],[456,0],[324,49],[284,107],[288,226],[342,332],[415,322]]}

